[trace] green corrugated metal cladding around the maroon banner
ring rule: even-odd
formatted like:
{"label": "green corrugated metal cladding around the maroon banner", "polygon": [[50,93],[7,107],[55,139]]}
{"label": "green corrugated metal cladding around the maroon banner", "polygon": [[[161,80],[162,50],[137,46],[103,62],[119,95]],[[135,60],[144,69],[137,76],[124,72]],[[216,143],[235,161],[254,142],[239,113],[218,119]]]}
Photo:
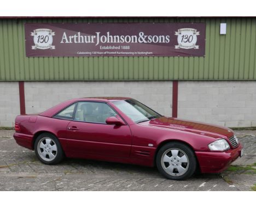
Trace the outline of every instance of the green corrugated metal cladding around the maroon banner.
{"label": "green corrugated metal cladding around the maroon banner", "polygon": [[[205,22],[206,56],[27,58],[25,22]],[[255,45],[256,18],[247,17],[1,19],[0,80],[255,80]]]}

